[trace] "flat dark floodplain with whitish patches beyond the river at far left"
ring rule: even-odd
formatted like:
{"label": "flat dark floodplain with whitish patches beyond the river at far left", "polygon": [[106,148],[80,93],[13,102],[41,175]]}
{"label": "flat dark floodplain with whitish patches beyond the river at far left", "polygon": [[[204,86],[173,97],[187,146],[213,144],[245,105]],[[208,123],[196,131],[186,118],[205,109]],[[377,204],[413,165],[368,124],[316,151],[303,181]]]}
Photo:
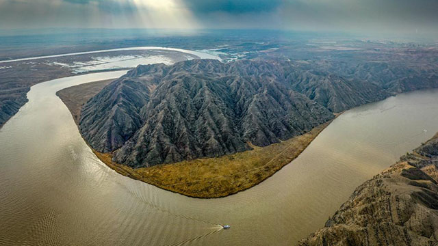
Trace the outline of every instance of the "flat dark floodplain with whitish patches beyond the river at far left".
{"label": "flat dark floodplain with whitish patches beyond the river at far left", "polygon": [[198,51],[144,46],[0,60],[0,128],[27,103],[27,92],[38,83],[196,58],[220,59]]}

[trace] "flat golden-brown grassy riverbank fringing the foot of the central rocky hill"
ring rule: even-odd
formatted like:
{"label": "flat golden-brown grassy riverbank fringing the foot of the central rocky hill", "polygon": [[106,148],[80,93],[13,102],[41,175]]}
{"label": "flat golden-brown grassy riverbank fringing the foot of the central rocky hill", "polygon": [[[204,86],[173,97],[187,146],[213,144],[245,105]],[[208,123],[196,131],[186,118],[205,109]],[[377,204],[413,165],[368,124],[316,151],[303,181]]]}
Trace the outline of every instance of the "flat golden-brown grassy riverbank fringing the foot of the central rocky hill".
{"label": "flat golden-brown grassy riverbank fringing the foot of the central rocky hill", "polygon": [[[57,96],[67,106],[76,124],[81,107],[110,81],[98,81],[68,87]],[[339,114],[338,114],[339,115]],[[133,169],[112,161],[112,153],[93,150],[99,159],[119,174],[153,184],[156,187],[189,197],[216,198],[244,191],[269,178],[296,159],[331,121],[313,128],[309,133],[253,150],[195,159],[179,163]]]}

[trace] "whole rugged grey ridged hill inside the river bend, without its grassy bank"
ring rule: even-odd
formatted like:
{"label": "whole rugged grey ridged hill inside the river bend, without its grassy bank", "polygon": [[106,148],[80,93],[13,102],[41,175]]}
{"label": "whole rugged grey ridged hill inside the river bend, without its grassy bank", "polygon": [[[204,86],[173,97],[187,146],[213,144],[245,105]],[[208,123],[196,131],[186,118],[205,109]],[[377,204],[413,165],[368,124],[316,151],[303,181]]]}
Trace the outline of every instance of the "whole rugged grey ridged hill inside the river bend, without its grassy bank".
{"label": "whole rugged grey ridged hill inside the river bend, without its grassy bank", "polygon": [[92,148],[131,167],[217,157],[302,135],[331,112],[438,87],[433,70],[400,69],[209,59],[138,66],[86,103],[79,128]]}

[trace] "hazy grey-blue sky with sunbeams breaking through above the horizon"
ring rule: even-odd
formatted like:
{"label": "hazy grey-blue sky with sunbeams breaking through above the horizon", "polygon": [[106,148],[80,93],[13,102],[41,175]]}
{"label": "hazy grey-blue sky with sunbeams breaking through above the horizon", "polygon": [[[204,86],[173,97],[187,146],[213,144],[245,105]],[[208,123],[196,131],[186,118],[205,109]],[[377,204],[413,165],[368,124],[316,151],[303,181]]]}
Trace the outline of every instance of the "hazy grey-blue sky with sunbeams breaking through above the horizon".
{"label": "hazy grey-blue sky with sunbeams breaking through above the horizon", "polygon": [[0,0],[0,28],[263,28],[438,34],[438,0]]}

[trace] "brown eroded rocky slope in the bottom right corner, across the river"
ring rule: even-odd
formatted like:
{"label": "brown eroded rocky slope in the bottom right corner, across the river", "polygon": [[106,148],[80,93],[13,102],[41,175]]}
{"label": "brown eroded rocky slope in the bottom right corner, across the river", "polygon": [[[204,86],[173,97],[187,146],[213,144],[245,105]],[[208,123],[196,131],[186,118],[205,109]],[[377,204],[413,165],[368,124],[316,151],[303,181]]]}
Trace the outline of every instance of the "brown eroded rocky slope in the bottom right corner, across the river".
{"label": "brown eroded rocky slope in the bottom right corner, across the river", "polygon": [[299,245],[438,245],[438,134],[363,183]]}

